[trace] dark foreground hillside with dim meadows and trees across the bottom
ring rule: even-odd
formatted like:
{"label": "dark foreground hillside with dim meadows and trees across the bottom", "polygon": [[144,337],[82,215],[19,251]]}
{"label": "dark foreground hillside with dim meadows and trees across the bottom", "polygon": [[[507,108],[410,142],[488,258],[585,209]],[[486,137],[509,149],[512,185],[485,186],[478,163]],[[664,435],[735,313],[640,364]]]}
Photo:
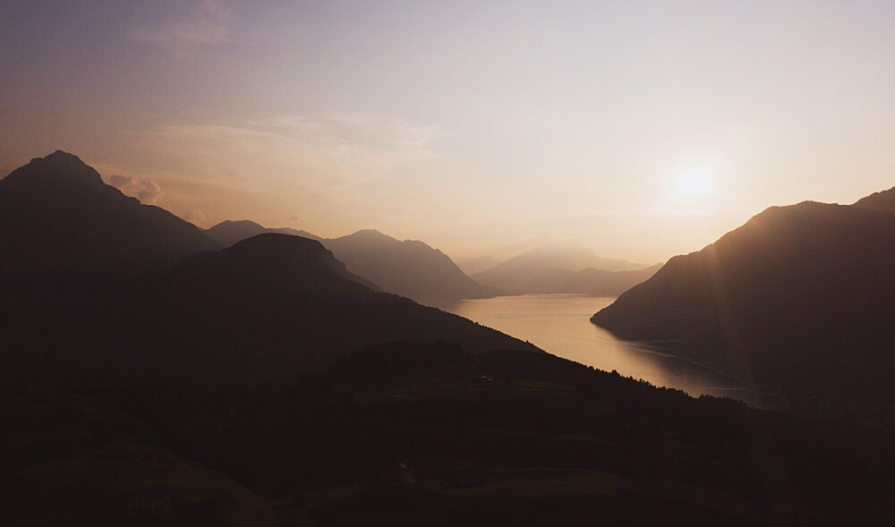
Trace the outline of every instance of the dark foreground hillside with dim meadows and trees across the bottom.
{"label": "dark foreground hillside with dim meadows and trees across the bottom", "polygon": [[0,390],[0,418],[12,525],[882,525],[895,514],[890,436],[695,400],[547,353],[379,344],[289,383]]}

